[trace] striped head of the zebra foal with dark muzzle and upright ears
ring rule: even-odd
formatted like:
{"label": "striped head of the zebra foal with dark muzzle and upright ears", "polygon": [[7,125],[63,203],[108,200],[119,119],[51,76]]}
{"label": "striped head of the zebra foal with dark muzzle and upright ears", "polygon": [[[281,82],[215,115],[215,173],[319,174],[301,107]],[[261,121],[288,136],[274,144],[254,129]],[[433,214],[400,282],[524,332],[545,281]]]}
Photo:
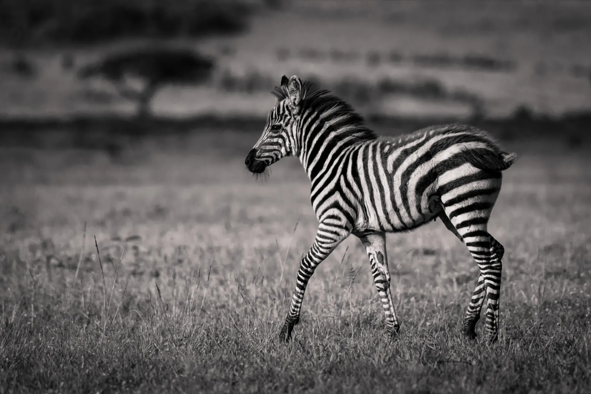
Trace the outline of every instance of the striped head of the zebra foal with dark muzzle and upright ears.
{"label": "striped head of the zebra foal with dark muzzle and upright ears", "polygon": [[281,85],[273,92],[277,104],[269,112],[261,138],[248,152],[244,164],[254,174],[261,174],[267,167],[285,156],[297,155],[296,131],[300,114],[302,83],[297,76],[281,77]]}

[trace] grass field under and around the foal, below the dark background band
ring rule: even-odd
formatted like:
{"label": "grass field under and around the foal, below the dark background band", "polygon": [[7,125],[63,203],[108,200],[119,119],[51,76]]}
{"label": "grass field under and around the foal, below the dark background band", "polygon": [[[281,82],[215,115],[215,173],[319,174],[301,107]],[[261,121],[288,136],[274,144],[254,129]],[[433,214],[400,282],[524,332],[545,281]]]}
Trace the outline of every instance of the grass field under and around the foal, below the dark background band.
{"label": "grass field under and around the foal, below the dark background band", "polygon": [[495,346],[482,321],[477,342],[460,336],[478,268],[439,221],[388,237],[399,340],[380,339],[350,238],[317,269],[285,345],[317,223],[296,159],[265,182],[243,168],[256,138],[170,136],[116,159],[1,148],[0,392],[591,390],[588,149],[505,144],[522,157],[489,226],[506,249]]}

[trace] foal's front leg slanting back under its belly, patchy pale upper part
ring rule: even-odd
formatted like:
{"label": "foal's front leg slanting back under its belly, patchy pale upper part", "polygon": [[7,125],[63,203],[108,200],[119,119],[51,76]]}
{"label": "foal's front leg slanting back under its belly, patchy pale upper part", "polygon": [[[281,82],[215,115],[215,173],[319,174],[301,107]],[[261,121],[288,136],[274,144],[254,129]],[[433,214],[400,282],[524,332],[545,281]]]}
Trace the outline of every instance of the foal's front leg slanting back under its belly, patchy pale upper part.
{"label": "foal's front leg slanting back under its belly, patchy pale upper part", "polygon": [[400,333],[400,324],[394,310],[394,301],[390,292],[390,272],[388,269],[388,255],[386,253],[386,235],[385,233],[371,233],[358,236],[365,246],[371,264],[372,276],[378,289],[379,298],[384,307],[386,317],[386,337],[395,338]]}

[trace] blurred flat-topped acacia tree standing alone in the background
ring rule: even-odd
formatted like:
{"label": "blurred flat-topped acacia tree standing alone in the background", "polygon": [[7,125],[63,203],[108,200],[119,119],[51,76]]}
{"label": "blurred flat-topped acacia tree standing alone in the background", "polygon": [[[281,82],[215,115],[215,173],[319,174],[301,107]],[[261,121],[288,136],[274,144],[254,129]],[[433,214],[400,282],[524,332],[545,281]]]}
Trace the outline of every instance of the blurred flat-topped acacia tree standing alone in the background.
{"label": "blurred flat-topped acacia tree standing alone in the background", "polygon": [[[176,48],[139,48],[113,53],[97,63],[83,67],[79,77],[104,77],[119,94],[138,103],[138,117],[150,116],[150,102],[166,84],[202,84],[209,79],[214,61],[196,51]],[[130,80],[139,80],[134,89]]]}

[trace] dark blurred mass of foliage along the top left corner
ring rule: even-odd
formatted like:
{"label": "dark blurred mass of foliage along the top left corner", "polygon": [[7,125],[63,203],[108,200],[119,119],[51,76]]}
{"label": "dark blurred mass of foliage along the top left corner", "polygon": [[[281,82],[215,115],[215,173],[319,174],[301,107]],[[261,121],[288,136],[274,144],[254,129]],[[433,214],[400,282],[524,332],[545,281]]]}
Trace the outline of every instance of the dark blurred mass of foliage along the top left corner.
{"label": "dark blurred mass of foliage along the top left corner", "polygon": [[18,48],[232,34],[245,30],[250,9],[238,0],[0,0],[0,41]]}

